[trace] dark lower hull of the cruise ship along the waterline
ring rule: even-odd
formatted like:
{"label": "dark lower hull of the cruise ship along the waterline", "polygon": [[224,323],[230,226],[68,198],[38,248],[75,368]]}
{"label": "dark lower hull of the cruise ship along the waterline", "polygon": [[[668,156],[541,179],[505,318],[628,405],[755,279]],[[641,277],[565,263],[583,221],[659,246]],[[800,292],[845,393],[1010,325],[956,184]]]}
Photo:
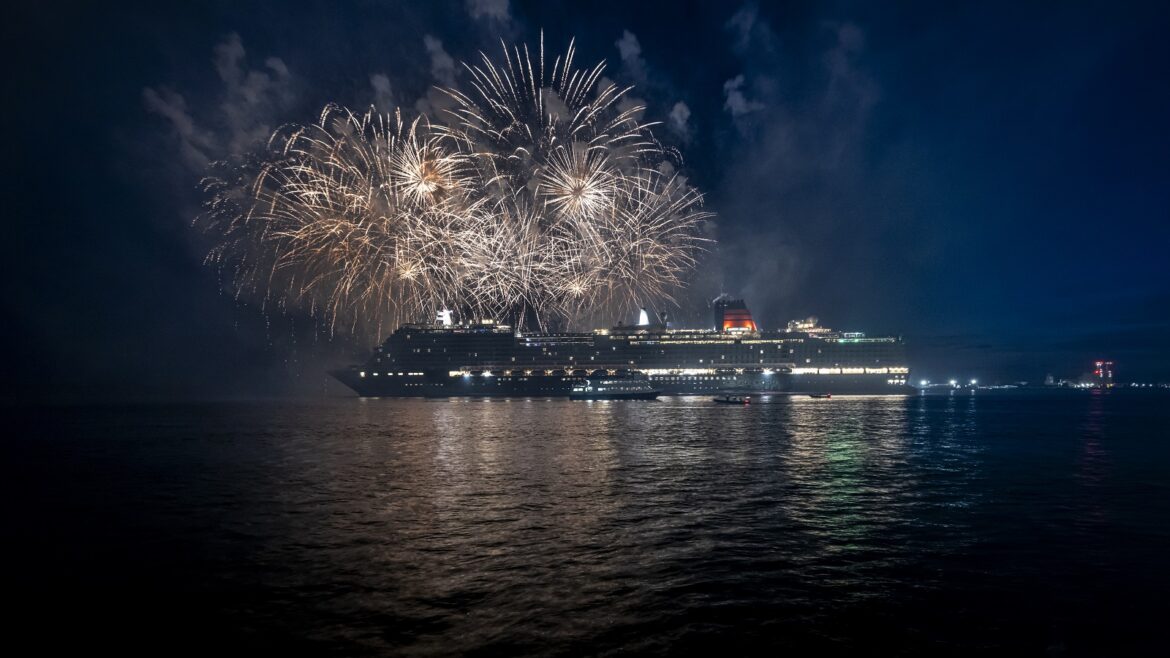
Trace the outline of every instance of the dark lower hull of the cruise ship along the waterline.
{"label": "dark lower hull of the cruise ship along the waterline", "polygon": [[[362,376],[357,369],[332,372],[362,397],[569,397],[585,376],[531,375],[493,376],[486,373],[450,376],[422,372],[414,376]],[[708,373],[649,376],[649,383],[665,396],[743,391],[756,393],[832,395],[913,395],[907,385],[890,384],[882,375],[789,375],[789,373]]]}

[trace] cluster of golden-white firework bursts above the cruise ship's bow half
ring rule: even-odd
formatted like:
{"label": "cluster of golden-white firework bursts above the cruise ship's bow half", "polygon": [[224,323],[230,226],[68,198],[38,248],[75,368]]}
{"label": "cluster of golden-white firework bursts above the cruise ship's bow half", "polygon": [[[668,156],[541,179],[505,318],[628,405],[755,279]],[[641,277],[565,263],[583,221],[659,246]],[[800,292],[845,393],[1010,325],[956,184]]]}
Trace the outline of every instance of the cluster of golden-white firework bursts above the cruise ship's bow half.
{"label": "cluster of golden-white firework bursts above the cruise ship's bow half", "polygon": [[[208,261],[239,294],[379,334],[442,308],[521,324],[673,301],[708,242],[702,196],[621,109],[604,62],[503,46],[446,116],[328,105],[206,180]],[[534,61],[535,60],[535,61]]]}

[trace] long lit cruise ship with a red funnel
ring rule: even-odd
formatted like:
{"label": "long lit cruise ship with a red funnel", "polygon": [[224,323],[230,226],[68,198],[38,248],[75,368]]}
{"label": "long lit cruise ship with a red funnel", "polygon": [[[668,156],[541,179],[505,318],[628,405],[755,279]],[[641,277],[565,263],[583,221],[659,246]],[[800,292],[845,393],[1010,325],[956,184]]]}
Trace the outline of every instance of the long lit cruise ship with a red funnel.
{"label": "long lit cruise ship with a red funnel", "polygon": [[445,311],[398,328],[367,362],[332,375],[363,397],[567,397],[590,378],[632,376],[667,396],[915,392],[901,337],[833,331],[815,317],[765,331],[743,300],[711,306],[703,329],[672,328],[644,309],[636,324],[590,333],[456,323]]}

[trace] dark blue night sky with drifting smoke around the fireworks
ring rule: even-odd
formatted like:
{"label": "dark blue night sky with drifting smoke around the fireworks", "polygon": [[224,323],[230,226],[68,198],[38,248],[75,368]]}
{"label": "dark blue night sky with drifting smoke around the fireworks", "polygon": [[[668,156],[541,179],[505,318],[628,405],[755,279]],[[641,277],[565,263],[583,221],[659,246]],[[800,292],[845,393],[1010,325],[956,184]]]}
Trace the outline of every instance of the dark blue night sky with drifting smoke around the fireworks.
{"label": "dark blue night sky with drifting smoke around the fireworks", "polygon": [[6,393],[339,393],[324,369],[371,345],[266,316],[202,265],[205,164],[328,102],[413,111],[460,60],[542,29],[607,60],[681,149],[718,215],[696,300],[901,334],[915,378],[1110,357],[1170,381],[1170,9],[1019,5],[21,4]]}

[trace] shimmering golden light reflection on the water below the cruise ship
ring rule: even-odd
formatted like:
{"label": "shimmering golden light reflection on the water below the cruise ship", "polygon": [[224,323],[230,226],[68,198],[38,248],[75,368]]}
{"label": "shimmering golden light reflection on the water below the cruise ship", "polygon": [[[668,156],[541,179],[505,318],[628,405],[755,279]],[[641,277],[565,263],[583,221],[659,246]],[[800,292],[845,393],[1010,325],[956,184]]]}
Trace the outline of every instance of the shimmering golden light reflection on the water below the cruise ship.
{"label": "shimmering golden light reflection on the water below the cruise ship", "polygon": [[[603,604],[631,569],[686,582],[682,566],[729,550],[794,564],[815,587],[862,577],[849,561],[890,568],[922,474],[969,457],[966,404],[928,417],[914,398],[879,396],[370,400],[363,423],[383,441],[370,450],[393,561],[413,574],[404,592],[441,605],[495,582],[493,596],[523,588],[557,610],[570,594]],[[923,452],[941,462],[916,464]],[[518,554],[530,558],[514,573]],[[494,610],[457,626],[488,632],[503,622]]]}

